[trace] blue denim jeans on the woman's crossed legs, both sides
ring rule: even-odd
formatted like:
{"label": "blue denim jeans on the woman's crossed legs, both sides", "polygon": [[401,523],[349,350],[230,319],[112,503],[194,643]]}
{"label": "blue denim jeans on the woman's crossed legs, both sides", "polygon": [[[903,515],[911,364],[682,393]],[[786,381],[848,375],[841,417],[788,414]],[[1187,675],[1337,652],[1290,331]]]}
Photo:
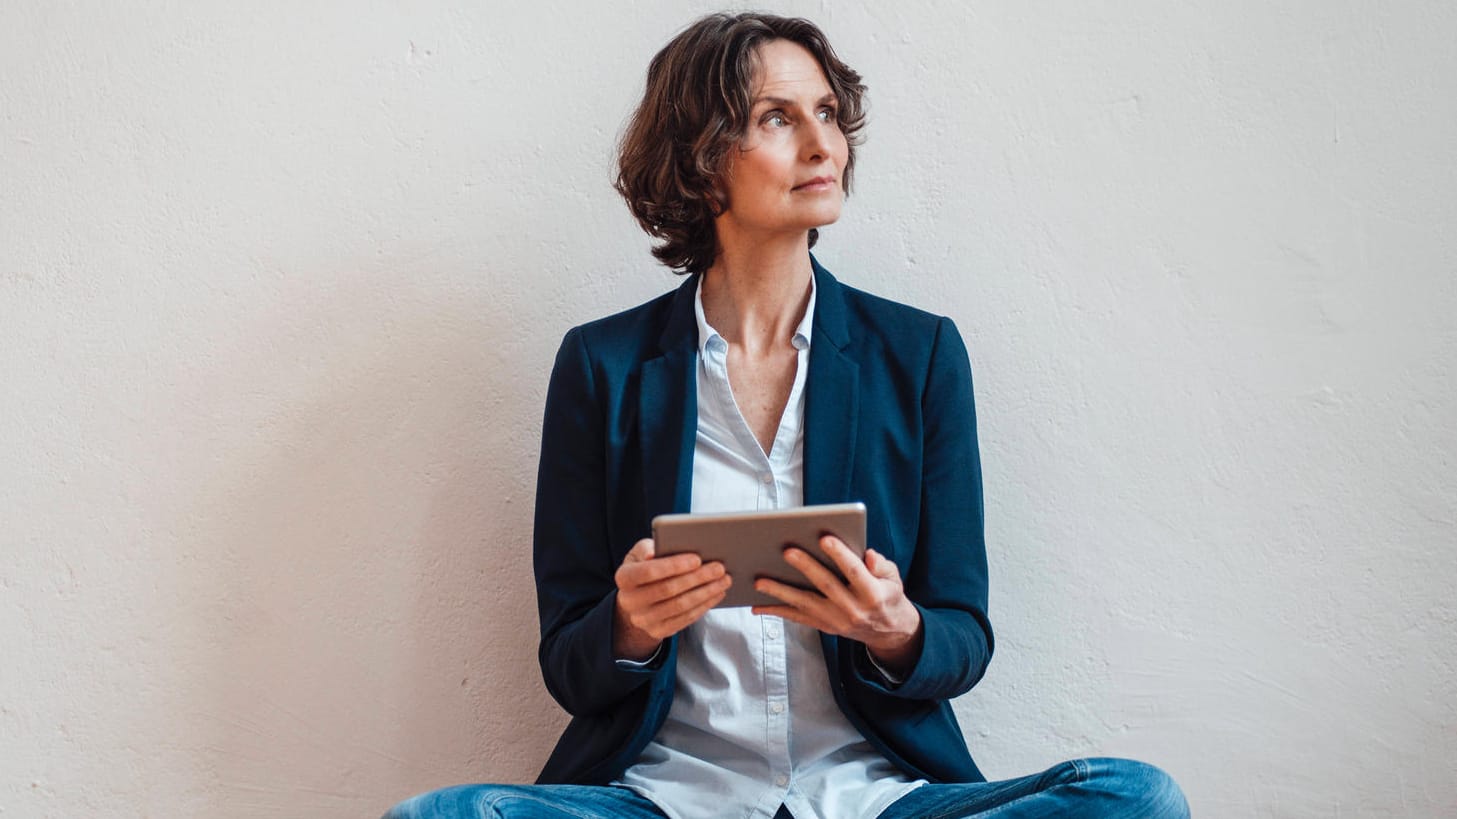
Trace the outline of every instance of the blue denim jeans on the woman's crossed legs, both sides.
{"label": "blue denim jeans on the woman's crossed legs, both sides", "polygon": [[[921,785],[880,819],[1187,819],[1183,791],[1152,765],[1074,759],[1040,774],[976,784]],[[594,785],[456,785],[408,799],[385,819],[663,819],[627,788]],[[793,819],[779,809],[775,819]]]}

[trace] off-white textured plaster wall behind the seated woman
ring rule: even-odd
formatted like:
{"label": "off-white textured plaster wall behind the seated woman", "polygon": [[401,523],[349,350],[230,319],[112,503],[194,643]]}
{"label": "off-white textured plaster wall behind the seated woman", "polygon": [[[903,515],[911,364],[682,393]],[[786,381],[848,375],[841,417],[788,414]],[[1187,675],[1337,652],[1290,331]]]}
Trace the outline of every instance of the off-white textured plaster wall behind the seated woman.
{"label": "off-white textured plaster wall behind the seated woman", "polygon": [[[707,9],[0,7],[0,815],[535,774],[543,386],[675,283],[609,157]],[[820,258],[972,350],[983,768],[1454,815],[1457,7],[781,9],[871,86]]]}

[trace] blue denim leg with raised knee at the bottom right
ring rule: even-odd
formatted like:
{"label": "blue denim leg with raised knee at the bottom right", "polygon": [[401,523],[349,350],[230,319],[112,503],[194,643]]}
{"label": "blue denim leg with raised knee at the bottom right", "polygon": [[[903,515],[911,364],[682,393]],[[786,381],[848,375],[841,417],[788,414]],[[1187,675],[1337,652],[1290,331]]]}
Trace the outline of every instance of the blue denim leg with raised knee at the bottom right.
{"label": "blue denim leg with raised knee at the bottom right", "polygon": [[921,785],[880,819],[1189,819],[1173,778],[1132,759],[1074,759],[1040,774],[976,784]]}

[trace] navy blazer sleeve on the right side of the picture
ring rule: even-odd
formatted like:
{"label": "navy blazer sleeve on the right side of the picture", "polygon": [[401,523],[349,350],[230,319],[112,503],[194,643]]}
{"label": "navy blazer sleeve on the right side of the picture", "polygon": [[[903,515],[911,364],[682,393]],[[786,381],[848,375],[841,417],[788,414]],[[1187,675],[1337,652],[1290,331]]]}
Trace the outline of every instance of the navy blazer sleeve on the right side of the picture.
{"label": "navy blazer sleeve on the right side of the picture", "polygon": [[915,551],[902,565],[906,596],[921,609],[924,640],[915,666],[892,683],[860,648],[860,685],[906,700],[950,700],[972,689],[992,657],[986,616],[986,541],[976,407],[966,345],[949,318],[937,324],[922,417],[921,509]]}

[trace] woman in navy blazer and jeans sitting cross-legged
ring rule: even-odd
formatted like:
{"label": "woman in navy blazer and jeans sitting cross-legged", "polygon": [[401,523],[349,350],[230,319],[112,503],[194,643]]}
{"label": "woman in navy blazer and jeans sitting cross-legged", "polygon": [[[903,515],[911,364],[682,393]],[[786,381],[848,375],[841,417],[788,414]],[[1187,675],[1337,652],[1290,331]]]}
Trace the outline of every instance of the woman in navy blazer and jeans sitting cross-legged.
{"label": "woman in navy blazer and jeans sitting cross-legged", "polygon": [[[712,15],[653,60],[616,188],[689,275],[567,334],[542,430],[539,656],[573,721],[539,784],[392,816],[1187,815],[1139,762],[985,783],[967,753],[949,700],[992,632],[966,350],[809,252],[839,219],[863,93],[797,19]],[[868,507],[863,560],[785,549],[814,590],[647,538],[667,512],[847,500]],[[733,583],[779,605],[715,609]]]}

